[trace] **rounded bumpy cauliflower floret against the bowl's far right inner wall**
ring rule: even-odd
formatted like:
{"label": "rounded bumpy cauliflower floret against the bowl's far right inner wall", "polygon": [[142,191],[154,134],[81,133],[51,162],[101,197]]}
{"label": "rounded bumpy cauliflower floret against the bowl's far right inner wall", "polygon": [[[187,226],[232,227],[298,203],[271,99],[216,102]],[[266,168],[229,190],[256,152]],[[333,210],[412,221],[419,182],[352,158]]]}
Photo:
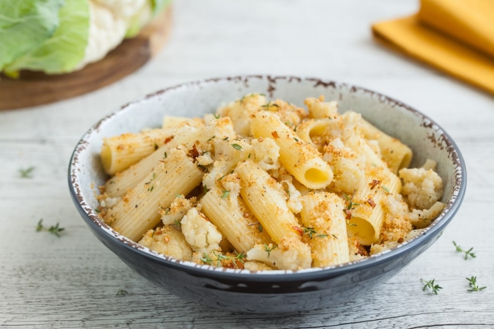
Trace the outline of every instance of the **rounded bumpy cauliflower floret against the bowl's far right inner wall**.
{"label": "rounded bumpy cauliflower floret against the bowl's far right inner wall", "polygon": [[433,169],[403,168],[399,176],[403,179],[402,194],[411,209],[429,209],[443,195],[443,180]]}

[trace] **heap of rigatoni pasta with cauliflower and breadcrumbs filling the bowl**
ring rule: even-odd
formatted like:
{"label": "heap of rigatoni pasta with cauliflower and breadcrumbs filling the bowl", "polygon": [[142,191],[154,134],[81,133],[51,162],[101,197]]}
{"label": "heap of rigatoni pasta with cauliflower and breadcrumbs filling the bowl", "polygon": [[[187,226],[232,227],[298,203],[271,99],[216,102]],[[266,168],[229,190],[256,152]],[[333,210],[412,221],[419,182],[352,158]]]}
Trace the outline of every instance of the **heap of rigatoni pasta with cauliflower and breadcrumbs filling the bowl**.
{"label": "heap of rigatoni pasta with cauliflower and breadcrumbs filling the bowl", "polygon": [[[304,103],[254,93],[203,118],[165,117],[161,145],[108,171],[101,217],[183,260],[299,270],[394,247],[440,215],[434,161],[408,169],[410,148],[360,114],[322,96]],[[131,149],[122,136],[106,140],[103,162],[109,141]]]}

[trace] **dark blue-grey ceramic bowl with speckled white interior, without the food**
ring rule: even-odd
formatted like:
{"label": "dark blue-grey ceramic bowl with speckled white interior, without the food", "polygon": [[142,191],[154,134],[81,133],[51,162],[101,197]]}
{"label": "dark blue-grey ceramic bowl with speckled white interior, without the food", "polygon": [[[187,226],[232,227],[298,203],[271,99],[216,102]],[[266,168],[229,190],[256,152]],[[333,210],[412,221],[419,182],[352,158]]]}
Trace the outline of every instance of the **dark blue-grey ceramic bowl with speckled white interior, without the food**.
{"label": "dark blue-grey ceramic bowl with speckled white interior, without the food", "polygon": [[[94,186],[105,176],[99,152],[104,137],[158,127],[165,114],[202,116],[248,93],[264,93],[303,106],[305,97],[337,100],[414,151],[412,166],[437,161],[445,210],[423,234],[397,248],[324,269],[249,272],[213,268],[150,251],[111,229],[98,217]],[[293,312],[331,307],[390,279],[441,235],[463,199],[466,172],[460,151],[446,132],[419,111],[382,94],[345,83],[299,77],[239,76],[166,88],[122,106],[89,128],[69,167],[74,204],[96,237],[131,269],[170,292],[208,306],[244,312]],[[403,292],[406,298],[406,292]]]}

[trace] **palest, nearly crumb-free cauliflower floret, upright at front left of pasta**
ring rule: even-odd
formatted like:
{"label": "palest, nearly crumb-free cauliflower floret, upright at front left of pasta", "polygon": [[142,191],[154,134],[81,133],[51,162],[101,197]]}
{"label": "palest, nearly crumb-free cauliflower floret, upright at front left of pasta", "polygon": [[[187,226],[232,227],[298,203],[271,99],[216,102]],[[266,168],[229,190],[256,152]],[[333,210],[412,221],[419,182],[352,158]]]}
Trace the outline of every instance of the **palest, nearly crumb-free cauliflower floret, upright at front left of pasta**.
{"label": "palest, nearly crumb-free cauliflower floret, upright at front left of pasta", "polygon": [[196,208],[191,208],[187,215],[183,216],[180,224],[183,235],[196,253],[209,254],[213,250],[221,249],[221,233]]}

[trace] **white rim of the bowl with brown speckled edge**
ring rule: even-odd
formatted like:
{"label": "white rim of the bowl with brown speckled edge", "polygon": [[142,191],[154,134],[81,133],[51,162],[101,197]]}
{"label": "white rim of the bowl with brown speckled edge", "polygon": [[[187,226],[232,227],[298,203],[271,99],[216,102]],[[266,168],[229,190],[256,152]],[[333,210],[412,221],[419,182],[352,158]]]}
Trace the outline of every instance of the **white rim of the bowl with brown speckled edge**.
{"label": "white rim of the bowl with brown speckled edge", "polygon": [[[363,92],[364,94],[369,94],[370,96],[377,96],[380,102],[387,102],[390,106],[399,106],[413,113],[413,115],[418,116],[422,124],[427,124],[428,126],[434,127],[435,131],[442,136],[442,141],[446,143],[448,152],[451,155],[451,160],[455,166],[455,184],[453,186],[453,193],[450,199],[447,200],[446,207],[441,213],[441,215],[431,223],[427,228],[424,229],[418,236],[399,244],[397,247],[385,250],[375,255],[371,255],[364,259],[357,261],[348,262],[341,265],[329,266],[324,268],[311,268],[303,269],[297,271],[291,270],[272,270],[272,271],[256,271],[252,272],[249,270],[238,270],[238,269],[225,269],[216,268],[209,265],[198,265],[191,261],[179,260],[173,257],[165,256],[159,254],[155,251],[149,250],[147,247],[139,245],[125,236],[120,235],[118,232],[110,228],[106,223],[104,223],[98,216],[98,214],[88,205],[84,196],[82,195],[81,189],[79,187],[78,179],[78,168],[80,166],[78,157],[81,152],[84,152],[88,144],[87,140],[91,134],[98,131],[101,126],[105,124],[108,120],[111,120],[113,116],[122,114],[122,111],[126,111],[131,105],[139,104],[145,102],[149,98],[164,95],[170,91],[189,88],[189,87],[201,87],[211,83],[218,82],[248,82],[250,79],[265,79],[269,81],[269,90],[275,90],[274,85],[276,85],[277,80],[287,80],[291,82],[296,80],[298,82],[307,81],[314,83],[314,86],[324,86],[332,87],[335,90],[348,89],[350,93],[352,92]],[[272,87],[272,88],[271,88]],[[272,96],[272,91],[270,92]],[[187,271],[193,275],[199,277],[216,277],[218,279],[231,279],[237,281],[249,281],[249,282],[288,282],[288,281],[300,281],[300,280],[317,280],[318,278],[325,277],[335,277],[340,276],[348,272],[358,271],[365,268],[372,268],[379,264],[383,264],[387,261],[394,259],[395,257],[400,257],[403,253],[408,250],[418,247],[423,242],[435,237],[441,233],[441,230],[453,219],[454,215],[457,213],[465,194],[466,189],[466,168],[464,164],[463,157],[456,145],[456,143],[451,139],[451,137],[446,133],[444,129],[441,128],[434,120],[430,119],[425,114],[420,111],[408,106],[398,100],[395,100],[389,96],[383,95],[381,93],[358,87],[352,84],[324,80],[319,78],[311,77],[299,77],[299,76],[271,76],[271,75],[243,75],[243,76],[233,76],[233,77],[222,77],[222,78],[212,78],[206,80],[198,80],[193,82],[181,83],[172,87],[168,87],[154,93],[148,94],[137,100],[129,102],[122,105],[120,108],[114,110],[112,113],[103,117],[97,123],[92,125],[86,133],[82,136],[81,140],[74,149],[71,156],[69,164],[69,189],[73,200],[76,203],[79,213],[83,219],[89,224],[94,226],[96,229],[102,229],[108,234],[110,239],[117,240],[121,247],[128,249],[130,252],[138,253],[139,255],[149,258],[149,260],[163,263],[168,267],[173,267],[183,271]],[[79,201],[79,203],[77,203]]]}

